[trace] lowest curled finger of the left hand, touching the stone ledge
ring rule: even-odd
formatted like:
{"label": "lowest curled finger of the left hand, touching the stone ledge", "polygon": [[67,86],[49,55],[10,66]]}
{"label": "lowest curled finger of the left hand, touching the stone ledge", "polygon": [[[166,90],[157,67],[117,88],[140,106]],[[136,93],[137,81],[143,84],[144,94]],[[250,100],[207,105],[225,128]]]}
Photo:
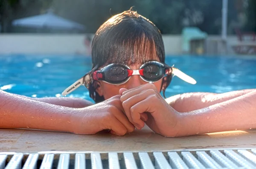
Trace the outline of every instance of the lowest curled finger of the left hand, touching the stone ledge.
{"label": "lowest curled finger of the left hand, touching the stone ledge", "polygon": [[127,133],[126,127],[117,118],[114,118],[105,129],[113,130],[115,135],[125,135]]}

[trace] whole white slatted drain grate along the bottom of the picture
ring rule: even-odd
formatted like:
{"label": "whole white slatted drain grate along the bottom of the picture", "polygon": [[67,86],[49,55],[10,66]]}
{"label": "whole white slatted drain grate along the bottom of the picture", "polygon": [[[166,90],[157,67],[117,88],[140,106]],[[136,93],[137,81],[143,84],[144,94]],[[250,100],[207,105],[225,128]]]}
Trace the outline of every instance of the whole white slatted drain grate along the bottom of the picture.
{"label": "whole white slatted drain grate along the bottom of the picture", "polygon": [[256,169],[256,149],[169,152],[0,152],[0,169]]}

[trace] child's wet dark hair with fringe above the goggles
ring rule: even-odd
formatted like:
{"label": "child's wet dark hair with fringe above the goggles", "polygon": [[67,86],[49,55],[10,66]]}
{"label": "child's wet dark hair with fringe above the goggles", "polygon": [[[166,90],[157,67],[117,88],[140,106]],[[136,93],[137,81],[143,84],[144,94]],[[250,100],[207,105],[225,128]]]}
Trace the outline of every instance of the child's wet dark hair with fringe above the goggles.
{"label": "child's wet dark hair with fringe above the goggles", "polygon": [[[93,68],[111,63],[143,64],[153,59],[165,62],[162,35],[154,23],[137,11],[130,9],[114,15],[99,27],[93,37]],[[90,97],[96,103],[104,101],[104,97],[95,91],[96,88],[96,83],[90,84]]]}

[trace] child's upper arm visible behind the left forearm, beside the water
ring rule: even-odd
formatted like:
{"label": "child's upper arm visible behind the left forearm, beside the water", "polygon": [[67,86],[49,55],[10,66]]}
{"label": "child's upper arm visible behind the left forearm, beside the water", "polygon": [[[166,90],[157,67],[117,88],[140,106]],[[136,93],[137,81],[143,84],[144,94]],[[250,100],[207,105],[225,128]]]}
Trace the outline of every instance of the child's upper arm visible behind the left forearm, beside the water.
{"label": "child's upper arm visible behind the left forearm, beside the water", "polygon": [[71,97],[45,97],[45,98],[32,98],[17,94],[12,94],[15,96],[23,97],[30,100],[42,101],[49,104],[55,104],[59,106],[65,107],[73,107],[73,108],[82,108],[93,105],[92,102],[80,99],[80,98],[71,98]]}

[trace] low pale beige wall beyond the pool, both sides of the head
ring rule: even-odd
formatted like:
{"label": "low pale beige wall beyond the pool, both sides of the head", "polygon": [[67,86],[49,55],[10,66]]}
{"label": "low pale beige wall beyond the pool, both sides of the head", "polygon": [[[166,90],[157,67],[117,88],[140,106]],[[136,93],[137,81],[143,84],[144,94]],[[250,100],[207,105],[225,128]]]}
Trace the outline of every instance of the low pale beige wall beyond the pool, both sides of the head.
{"label": "low pale beige wall beyond the pool, both sides of the head", "polygon": [[[84,34],[0,34],[0,54],[89,55],[90,51],[84,45],[84,36]],[[231,42],[237,41],[235,36],[228,39]],[[180,35],[164,35],[163,41],[166,55],[182,54]]]}

